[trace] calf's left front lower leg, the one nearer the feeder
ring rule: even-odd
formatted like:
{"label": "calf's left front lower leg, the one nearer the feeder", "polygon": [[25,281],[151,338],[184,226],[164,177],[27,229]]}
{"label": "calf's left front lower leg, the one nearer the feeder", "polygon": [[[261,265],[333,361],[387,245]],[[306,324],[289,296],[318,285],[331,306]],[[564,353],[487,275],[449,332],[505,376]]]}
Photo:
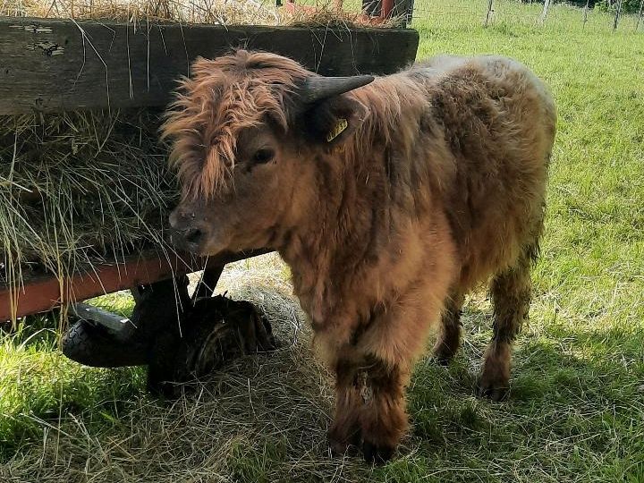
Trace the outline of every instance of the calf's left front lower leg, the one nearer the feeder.
{"label": "calf's left front lower leg, the one nearer the feeder", "polygon": [[328,432],[331,452],[354,453],[360,445],[360,374],[358,366],[347,359],[335,363],[335,417]]}

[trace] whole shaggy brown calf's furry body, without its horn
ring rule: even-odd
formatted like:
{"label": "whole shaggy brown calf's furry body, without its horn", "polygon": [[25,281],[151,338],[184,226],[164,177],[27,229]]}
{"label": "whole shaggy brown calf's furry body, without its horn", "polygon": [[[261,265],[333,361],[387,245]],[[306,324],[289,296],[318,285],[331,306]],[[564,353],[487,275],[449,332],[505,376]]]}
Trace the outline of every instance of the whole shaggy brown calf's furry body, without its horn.
{"label": "whole shaggy brown calf's furry body, without its horn", "polygon": [[[510,59],[437,57],[305,105],[298,89],[315,74],[278,55],[238,51],[193,73],[165,124],[184,191],[175,239],[279,250],[337,375],[332,448],[391,456],[431,327],[443,319],[446,362],[463,296],[488,280],[479,393],[503,397],[555,137],[545,86]],[[348,128],[327,141],[340,119]]]}

